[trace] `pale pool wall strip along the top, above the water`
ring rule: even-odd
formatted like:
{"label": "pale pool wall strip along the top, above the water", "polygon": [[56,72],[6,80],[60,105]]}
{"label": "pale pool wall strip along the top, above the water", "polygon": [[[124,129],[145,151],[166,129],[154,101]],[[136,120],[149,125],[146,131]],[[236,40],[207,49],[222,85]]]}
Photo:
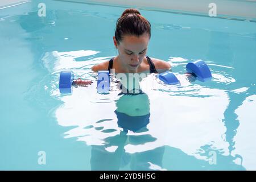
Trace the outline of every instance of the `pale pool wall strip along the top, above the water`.
{"label": "pale pool wall strip along the top, above the water", "polygon": [[[55,0],[59,1],[59,0]],[[177,13],[189,13],[196,15],[208,15],[210,3],[216,4],[217,17],[243,18],[256,20],[256,1],[255,0],[61,0],[81,3],[100,3],[115,6],[130,6],[135,8],[148,8],[152,10],[176,11]]]}

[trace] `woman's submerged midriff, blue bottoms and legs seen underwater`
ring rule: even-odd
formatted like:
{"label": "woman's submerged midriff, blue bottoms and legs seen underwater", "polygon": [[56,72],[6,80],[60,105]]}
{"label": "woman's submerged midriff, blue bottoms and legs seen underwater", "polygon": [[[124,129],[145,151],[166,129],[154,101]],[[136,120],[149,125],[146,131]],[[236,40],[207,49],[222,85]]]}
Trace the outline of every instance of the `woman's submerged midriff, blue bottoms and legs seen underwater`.
{"label": "woman's submerged midriff, blue bottoms and legs seen underwater", "polygon": [[[139,134],[147,131],[146,127],[149,123],[148,96],[144,93],[122,94],[116,101],[116,105],[117,123],[122,131],[118,135],[105,138],[103,146],[92,145],[90,160],[92,169],[119,170],[129,163],[132,170],[148,170],[150,166],[158,166],[158,169],[162,169],[163,146],[134,155],[125,151],[127,144],[143,145],[156,140],[150,134]],[[128,130],[139,135],[129,135]]]}

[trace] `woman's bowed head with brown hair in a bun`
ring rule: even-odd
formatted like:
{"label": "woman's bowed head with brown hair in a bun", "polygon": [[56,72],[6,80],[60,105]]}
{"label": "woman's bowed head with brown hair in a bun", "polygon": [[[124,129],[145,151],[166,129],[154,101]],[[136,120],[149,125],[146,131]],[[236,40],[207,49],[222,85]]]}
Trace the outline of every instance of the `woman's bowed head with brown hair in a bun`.
{"label": "woman's bowed head with brown hair in a bun", "polygon": [[141,64],[151,37],[151,25],[136,9],[126,9],[117,20],[114,45],[121,64],[133,70]]}

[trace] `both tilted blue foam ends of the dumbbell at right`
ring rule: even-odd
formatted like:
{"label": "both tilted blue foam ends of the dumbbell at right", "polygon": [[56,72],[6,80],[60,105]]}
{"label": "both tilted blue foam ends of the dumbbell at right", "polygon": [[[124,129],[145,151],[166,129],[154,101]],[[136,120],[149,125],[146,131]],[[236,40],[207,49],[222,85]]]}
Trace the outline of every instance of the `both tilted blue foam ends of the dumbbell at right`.
{"label": "both tilted blue foam ends of the dumbbell at right", "polygon": [[[193,75],[197,78],[199,81],[207,81],[212,78],[212,73],[210,72],[210,69],[208,65],[202,61],[197,60],[192,63],[188,63],[186,65],[187,72]],[[159,80],[162,80],[164,84],[178,84],[180,81],[177,79],[177,77],[172,72],[163,72],[160,73],[158,76]]]}

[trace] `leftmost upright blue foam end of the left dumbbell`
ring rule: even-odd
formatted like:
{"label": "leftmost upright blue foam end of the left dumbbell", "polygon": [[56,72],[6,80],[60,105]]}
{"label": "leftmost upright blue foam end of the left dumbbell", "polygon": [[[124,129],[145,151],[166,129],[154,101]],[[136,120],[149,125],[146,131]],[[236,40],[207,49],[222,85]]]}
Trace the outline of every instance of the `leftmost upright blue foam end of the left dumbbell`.
{"label": "leftmost upright blue foam end of the left dumbbell", "polygon": [[72,82],[74,80],[74,75],[72,71],[62,71],[60,72],[59,89],[61,94],[72,93]]}

